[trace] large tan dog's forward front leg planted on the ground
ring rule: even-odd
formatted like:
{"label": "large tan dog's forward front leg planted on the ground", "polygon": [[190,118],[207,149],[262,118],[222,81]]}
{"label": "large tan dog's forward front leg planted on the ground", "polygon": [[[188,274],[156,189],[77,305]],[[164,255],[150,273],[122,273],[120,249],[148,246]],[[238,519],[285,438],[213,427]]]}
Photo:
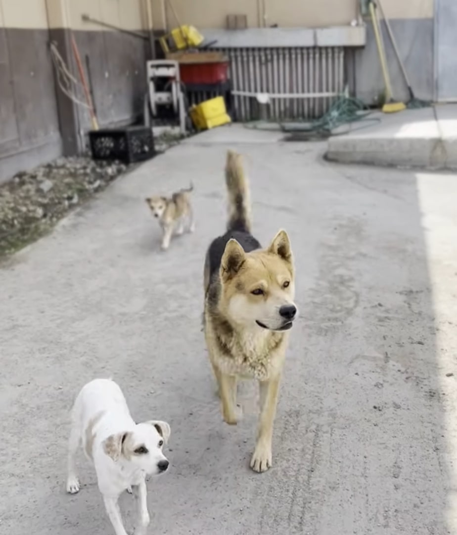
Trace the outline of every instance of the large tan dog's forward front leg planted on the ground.
{"label": "large tan dog's forward front leg planted on the ground", "polygon": [[251,458],[251,468],[256,472],[265,472],[271,467],[271,439],[273,421],[278,403],[279,383],[281,376],[268,381],[261,381],[260,386],[260,418],[258,423],[257,441]]}

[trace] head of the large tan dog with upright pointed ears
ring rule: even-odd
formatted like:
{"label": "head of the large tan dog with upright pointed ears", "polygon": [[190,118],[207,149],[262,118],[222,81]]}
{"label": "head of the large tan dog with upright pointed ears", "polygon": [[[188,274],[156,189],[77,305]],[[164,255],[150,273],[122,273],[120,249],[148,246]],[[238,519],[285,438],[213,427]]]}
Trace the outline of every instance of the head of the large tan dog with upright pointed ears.
{"label": "head of the large tan dog with upright pointed ears", "polygon": [[220,305],[243,328],[286,331],[297,316],[294,265],[285,231],[267,249],[245,253],[236,240],[227,242],[220,266]]}

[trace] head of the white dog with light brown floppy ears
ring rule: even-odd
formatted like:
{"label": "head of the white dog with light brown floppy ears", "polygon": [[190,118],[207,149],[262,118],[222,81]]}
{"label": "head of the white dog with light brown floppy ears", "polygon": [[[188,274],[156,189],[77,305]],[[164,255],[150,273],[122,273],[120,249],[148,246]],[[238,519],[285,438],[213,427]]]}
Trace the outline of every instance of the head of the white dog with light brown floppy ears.
{"label": "head of the white dog with light brown floppy ears", "polygon": [[133,431],[110,435],[104,440],[103,449],[114,462],[122,457],[146,475],[156,476],[168,468],[168,459],[163,455],[162,447],[168,442],[170,432],[167,422],[143,422],[137,424]]}

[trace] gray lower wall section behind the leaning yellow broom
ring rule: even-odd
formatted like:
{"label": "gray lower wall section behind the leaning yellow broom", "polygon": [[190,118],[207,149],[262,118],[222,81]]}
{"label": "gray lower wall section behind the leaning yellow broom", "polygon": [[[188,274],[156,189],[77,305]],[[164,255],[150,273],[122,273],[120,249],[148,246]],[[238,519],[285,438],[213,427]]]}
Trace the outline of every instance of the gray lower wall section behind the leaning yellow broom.
{"label": "gray lower wall section behind the leaning yellow broom", "polygon": [[[393,95],[397,100],[407,100],[407,87],[383,22],[381,27]],[[415,96],[431,100],[434,93],[434,20],[393,19],[391,27]],[[384,82],[371,22],[367,22],[365,47],[354,51],[352,59],[350,82],[354,94],[367,103],[376,102]]]}

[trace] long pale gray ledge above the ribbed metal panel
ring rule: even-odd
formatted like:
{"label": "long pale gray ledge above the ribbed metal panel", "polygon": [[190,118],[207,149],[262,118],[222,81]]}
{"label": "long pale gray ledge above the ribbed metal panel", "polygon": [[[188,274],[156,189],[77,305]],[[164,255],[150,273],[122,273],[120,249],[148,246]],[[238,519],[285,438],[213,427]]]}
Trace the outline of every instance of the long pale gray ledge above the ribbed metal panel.
{"label": "long pale gray ledge above the ribbed metal panel", "polygon": [[248,28],[246,30],[202,29],[213,48],[363,47],[364,26],[329,28]]}

